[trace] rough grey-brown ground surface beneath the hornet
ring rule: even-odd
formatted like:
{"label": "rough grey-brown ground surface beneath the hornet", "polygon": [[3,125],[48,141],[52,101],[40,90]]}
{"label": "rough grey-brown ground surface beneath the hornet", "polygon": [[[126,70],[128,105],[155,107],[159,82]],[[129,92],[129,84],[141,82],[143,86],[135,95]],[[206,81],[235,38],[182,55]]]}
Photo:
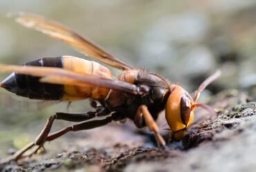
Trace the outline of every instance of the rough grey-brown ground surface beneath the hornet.
{"label": "rough grey-brown ground surface beneath the hornet", "polygon": [[46,153],[1,171],[255,171],[256,102],[229,90],[211,104],[218,117],[202,116],[166,151],[156,149],[145,132],[110,125],[53,141]]}

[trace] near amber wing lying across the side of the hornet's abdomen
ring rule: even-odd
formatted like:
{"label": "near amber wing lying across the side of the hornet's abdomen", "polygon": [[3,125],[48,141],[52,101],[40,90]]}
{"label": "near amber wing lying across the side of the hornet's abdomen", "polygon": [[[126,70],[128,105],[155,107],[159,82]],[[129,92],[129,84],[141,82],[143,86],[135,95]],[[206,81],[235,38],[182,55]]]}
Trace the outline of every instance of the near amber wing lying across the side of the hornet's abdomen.
{"label": "near amber wing lying across the side of the hornet's abdomen", "polygon": [[34,67],[0,64],[0,72],[17,72],[19,74],[42,77],[40,81],[44,83],[77,85],[81,87],[89,84],[127,92],[134,95],[143,94],[142,90],[140,90],[138,86],[131,83],[126,83],[121,80],[100,78],[90,74],[80,74],[57,67]]}

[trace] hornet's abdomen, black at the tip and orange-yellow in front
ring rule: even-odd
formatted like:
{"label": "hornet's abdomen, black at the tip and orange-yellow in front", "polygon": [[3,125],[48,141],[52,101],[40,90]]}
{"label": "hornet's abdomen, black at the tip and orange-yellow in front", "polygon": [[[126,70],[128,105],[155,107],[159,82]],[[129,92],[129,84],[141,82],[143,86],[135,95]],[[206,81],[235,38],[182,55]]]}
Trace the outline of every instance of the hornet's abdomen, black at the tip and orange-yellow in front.
{"label": "hornet's abdomen, black at the tip and orange-yellow in front", "polygon": [[[60,56],[55,58],[40,58],[25,65],[41,67],[60,67],[84,74],[93,74],[101,78],[111,78],[107,67],[94,61],[86,61],[75,56]],[[39,77],[12,73],[1,83],[1,87],[18,96],[39,100],[80,100],[93,98],[102,100],[109,89],[86,85],[84,87],[72,85],[57,85],[39,82]]]}

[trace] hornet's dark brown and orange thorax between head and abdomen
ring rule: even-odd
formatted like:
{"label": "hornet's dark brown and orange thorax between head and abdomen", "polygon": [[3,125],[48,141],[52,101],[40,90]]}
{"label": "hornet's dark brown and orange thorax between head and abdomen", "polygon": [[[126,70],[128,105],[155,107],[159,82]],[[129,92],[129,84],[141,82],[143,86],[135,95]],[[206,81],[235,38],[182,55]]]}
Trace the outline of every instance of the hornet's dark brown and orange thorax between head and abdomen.
{"label": "hornet's dark brown and orange thorax between head and abdomen", "polygon": [[109,93],[104,106],[110,111],[116,111],[122,116],[131,120],[140,105],[147,105],[153,118],[156,120],[158,113],[165,108],[168,96],[170,95],[170,84],[157,74],[152,74],[143,70],[127,70],[118,76],[118,80],[127,83],[146,87],[147,94],[143,96],[134,96],[125,92],[113,91]]}

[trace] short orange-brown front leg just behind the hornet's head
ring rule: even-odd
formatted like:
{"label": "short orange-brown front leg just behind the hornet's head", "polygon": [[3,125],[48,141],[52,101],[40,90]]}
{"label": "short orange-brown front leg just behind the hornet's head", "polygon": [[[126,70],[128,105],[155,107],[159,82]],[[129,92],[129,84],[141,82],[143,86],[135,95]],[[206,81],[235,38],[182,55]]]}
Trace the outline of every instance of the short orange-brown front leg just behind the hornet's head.
{"label": "short orange-brown front leg just behind the hornet's head", "polygon": [[165,140],[159,133],[158,126],[156,125],[156,122],[152,118],[152,115],[150,114],[146,105],[140,105],[136,114],[136,120],[137,122],[140,122],[140,124],[143,122],[143,118],[149,130],[154,132],[158,147],[161,147],[163,149],[165,147]]}

